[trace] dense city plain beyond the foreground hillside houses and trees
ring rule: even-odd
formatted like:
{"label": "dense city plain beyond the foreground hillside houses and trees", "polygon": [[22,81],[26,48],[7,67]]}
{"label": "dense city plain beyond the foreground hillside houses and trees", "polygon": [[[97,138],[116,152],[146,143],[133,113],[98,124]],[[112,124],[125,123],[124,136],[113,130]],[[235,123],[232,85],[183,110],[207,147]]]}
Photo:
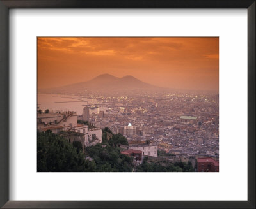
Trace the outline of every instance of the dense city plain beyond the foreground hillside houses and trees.
{"label": "dense city plain beyond the foreground hillside houses and trees", "polygon": [[88,106],[93,113],[85,120],[123,134],[130,143],[152,140],[168,153],[218,156],[218,95],[105,97],[99,106],[106,111],[93,112],[99,108]]}

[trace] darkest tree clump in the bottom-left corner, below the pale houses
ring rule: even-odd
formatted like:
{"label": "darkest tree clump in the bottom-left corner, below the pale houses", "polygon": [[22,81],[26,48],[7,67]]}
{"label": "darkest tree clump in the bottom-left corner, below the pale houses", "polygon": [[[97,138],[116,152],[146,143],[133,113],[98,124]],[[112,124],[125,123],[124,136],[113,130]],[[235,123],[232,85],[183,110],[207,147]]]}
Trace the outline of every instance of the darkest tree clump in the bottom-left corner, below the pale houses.
{"label": "darkest tree clump in the bottom-left corner, below the pale houses", "polygon": [[93,171],[92,167],[83,152],[77,153],[77,148],[65,138],[52,131],[37,133],[38,172],[83,172]]}

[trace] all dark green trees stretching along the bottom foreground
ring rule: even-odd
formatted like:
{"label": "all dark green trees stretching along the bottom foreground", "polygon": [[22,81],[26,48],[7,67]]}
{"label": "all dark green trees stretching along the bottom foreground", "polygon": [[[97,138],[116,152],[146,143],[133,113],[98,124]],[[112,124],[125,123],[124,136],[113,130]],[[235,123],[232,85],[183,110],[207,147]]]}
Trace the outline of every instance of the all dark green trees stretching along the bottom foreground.
{"label": "all dark green trees stretching along the bottom foreground", "polygon": [[[37,134],[37,170],[40,172],[192,172],[191,162],[152,161],[147,156],[140,166],[134,168],[132,157],[121,154],[120,144],[128,145],[127,139],[122,134],[113,134],[110,129],[102,130],[104,143],[86,147],[79,141],[68,143],[66,138],[46,131]],[[111,134],[108,140],[106,134]],[[170,155],[159,151],[162,156]],[[85,156],[93,160],[88,161]]]}

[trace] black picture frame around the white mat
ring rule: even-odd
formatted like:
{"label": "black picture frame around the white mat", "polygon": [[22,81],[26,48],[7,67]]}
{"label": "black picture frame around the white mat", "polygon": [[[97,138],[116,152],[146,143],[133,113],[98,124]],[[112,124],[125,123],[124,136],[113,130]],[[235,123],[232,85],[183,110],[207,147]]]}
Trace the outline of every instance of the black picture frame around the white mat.
{"label": "black picture frame around the white mat", "polygon": [[[255,5],[255,0],[0,0],[0,206],[3,208],[255,208]],[[9,201],[8,13],[11,8],[246,8],[248,10],[248,201]],[[238,165],[236,169],[239,169]]]}

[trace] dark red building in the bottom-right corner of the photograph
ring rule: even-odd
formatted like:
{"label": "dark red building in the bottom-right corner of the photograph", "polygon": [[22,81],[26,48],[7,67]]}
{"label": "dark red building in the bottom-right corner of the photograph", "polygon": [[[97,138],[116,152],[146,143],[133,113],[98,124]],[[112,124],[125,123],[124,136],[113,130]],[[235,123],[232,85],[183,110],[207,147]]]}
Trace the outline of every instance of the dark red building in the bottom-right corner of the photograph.
{"label": "dark red building in the bottom-right corner of the photograph", "polygon": [[198,172],[219,172],[219,162],[211,157],[197,159]]}

